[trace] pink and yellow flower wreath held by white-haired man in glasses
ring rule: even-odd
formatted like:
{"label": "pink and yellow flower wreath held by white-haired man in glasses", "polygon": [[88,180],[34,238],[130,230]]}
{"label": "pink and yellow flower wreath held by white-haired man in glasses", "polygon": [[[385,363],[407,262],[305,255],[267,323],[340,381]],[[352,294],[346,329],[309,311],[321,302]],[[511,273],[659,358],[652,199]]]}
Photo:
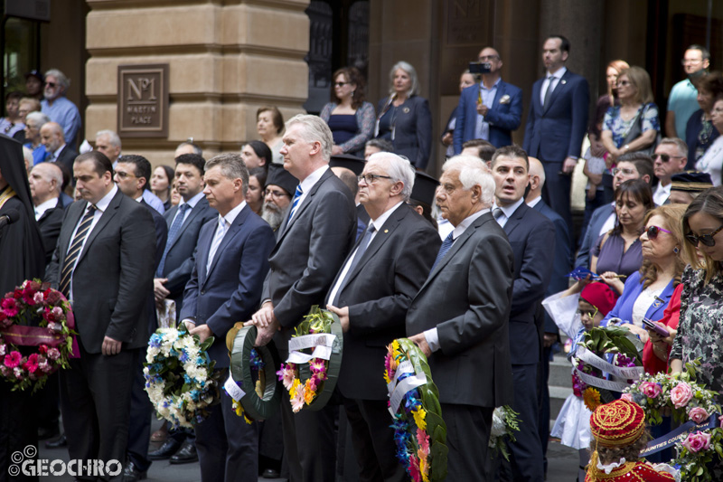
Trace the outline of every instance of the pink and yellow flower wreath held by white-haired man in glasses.
{"label": "pink and yellow flower wreath held by white-haired man in glasses", "polygon": [[[308,352],[314,348],[314,351]],[[339,317],[311,307],[288,342],[288,358],[277,372],[295,413],[321,410],[332,396],[342,368],[343,333]]]}

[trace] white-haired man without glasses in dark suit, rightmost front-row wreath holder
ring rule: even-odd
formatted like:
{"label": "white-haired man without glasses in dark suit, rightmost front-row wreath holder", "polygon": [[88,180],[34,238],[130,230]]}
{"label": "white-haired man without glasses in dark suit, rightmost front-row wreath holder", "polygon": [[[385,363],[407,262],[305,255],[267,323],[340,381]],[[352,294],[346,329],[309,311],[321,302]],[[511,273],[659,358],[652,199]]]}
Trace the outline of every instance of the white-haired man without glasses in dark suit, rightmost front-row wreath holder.
{"label": "white-haired man without glasses in dark suit, rightmost front-row wreath holder", "polygon": [[447,480],[486,480],[494,407],[512,402],[510,242],[494,222],[494,179],[473,156],[442,166],[437,205],[455,226],[407,314],[427,355],[446,426]]}

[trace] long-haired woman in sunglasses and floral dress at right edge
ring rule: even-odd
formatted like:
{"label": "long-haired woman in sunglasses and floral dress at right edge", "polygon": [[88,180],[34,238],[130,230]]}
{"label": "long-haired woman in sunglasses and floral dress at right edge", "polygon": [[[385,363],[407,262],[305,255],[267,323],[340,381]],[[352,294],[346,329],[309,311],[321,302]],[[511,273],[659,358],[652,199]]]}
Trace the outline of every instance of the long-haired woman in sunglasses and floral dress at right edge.
{"label": "long-haired woman in sunglasses and floral dress at right edge", "polygon": [[[691,266],[682,275],[681,321],[672,343],[672,373],[700,358],[698,381],[723,402],[723,187],[700,194],[682,217],[685,250]],[[697,256],[700,250],[701,258]],[[718,464],[720,465],[720,464]],[[718,474],[721,472],[719,471]],[[716,478],[719,480],[719,478]]]}

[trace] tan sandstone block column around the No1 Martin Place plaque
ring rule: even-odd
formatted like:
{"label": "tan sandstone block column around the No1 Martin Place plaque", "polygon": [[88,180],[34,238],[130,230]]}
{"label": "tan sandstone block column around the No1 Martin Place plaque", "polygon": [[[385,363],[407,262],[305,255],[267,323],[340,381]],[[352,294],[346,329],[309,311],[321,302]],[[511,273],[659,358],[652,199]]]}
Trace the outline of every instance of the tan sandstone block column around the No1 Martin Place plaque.
{"label": "tan sandstone block column around the No1 Martin Place plaque", "polygon": [[117,130],[117,66],[169,64],[167,138],[122,138],[123,152],[173,164],[188,137],[210,158],[258,138],[256,110],[303,112],[308,0],[88,0],[85,137]]}

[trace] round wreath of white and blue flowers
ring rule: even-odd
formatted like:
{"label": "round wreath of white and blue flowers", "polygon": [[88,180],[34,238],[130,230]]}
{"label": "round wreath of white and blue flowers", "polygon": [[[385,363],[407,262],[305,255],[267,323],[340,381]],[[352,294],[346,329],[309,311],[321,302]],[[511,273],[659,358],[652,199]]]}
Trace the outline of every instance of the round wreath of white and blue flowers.
{"label": "round wreath of white and blue flowers", "polygon": [[159,328],[148,341],[143,374],[146,392],[158,412],[174,427],[192,428],[208,416],[218,399],[218,381],[208,349],[213,337],[200,343],[185,328]]}

